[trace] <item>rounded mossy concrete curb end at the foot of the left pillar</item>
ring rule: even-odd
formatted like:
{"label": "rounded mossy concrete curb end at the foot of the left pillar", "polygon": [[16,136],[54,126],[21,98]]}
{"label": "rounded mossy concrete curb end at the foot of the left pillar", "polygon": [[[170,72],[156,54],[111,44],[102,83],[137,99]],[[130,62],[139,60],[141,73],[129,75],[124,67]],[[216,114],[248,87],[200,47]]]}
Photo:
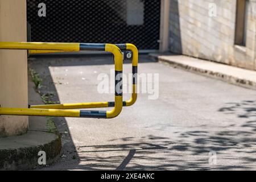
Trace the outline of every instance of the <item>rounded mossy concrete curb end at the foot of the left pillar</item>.
{"label": "rounded mossy concrete curb end at the foot of the left pillar", "polygon": [[46,152],[47,165],[61,154],[61,137],[43,131],[28,131],[18,137],[0,139],[0,170],[24,170],[39,167],[39,151]]}

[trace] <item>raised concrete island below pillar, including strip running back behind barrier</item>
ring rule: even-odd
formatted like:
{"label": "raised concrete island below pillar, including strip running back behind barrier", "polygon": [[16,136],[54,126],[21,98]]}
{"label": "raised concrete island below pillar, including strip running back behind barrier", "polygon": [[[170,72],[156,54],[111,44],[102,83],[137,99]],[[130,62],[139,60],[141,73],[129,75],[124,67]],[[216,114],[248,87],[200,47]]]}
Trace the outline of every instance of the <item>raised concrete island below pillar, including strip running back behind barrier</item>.
{"label": "raised concrete island below pillar, including strip running back behind barrier", "polygon": [[[40,95],[34,89],[31,77],[28,79],[29,101],[42,105]],[[46,117],[30,117],[30,129],[24,135],[0,138],[0,170],[24,170],[43,167],[38,163],[39,151],[46,152],[46,164],[52,164],[61,155],[61,136],[50,133]],[[52,130],[52,129],[51,129]]]}

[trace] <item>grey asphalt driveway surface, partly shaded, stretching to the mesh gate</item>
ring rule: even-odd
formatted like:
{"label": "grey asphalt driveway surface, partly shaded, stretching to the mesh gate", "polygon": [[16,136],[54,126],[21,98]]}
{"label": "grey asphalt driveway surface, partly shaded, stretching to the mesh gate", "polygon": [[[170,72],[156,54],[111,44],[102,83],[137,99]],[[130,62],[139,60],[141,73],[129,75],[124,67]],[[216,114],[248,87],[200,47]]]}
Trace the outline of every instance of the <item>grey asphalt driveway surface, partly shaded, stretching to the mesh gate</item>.
{"label": "grey asphalt driveway surface, partly shaded, stretching to the mesh gate", "polygon": [[[61,103],[113,101],[97,77],[110,56],[34,57],[42,94]],[[125,73],[131,64],[124,65]],[[159,98],[138,95],[114,119],[56,118],[64,154],[40,170],[256,169],[256,92],[141,56],[139,73],[159,74]],[[148,84],[154,83],[148,77]],[[155,88],[157,84],[155,83]],[[125,94],[125,98],[129,98]]]}

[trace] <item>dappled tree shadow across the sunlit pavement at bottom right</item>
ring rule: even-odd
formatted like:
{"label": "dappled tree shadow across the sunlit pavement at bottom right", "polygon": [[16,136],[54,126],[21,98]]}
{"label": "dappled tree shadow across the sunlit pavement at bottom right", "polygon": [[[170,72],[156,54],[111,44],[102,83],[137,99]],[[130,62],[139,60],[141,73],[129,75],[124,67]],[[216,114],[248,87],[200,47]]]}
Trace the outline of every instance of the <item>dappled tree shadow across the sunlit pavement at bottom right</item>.
{"label": "dappled tree shadow across the sunlit pavement at bottom right", "polygon": [[[78,168],[88,170],[250,170],[256,164],[256,101],[226,103],[218,111],[223,114],[236,115],[242,122],[234,121],[226,126],[217,126],[212,131],[209,126],[201,130],[188,129],[177,131],[175,139],[147,135],[140,139],[127,137],[110,142],[127,143],[140,141],[137,144],[120,144],[113,146],[93,146],[80,148],[80,152],[92,152],[92,155],[81,156]],[[148,146],[139,150],[147,142]],[[129,146],[131,148],[129,148]],[[90,150],[88,150],[88,147]],[[111,154],[101,155],[102,150],[112,150]],[[118,151],[115,151],[118,150]],[[125,154],[120,152],[127,151]],[[209,163],[209,152],[217,154],[217,164]]]}

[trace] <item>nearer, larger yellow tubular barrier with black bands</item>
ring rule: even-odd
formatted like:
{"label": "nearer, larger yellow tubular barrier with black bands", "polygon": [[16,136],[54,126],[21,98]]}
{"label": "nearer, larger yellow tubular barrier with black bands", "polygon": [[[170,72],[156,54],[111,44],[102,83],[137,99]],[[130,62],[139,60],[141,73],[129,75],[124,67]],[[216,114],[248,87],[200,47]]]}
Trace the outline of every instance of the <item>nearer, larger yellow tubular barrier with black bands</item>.
{"label": "nearer, larger yellow tubular barrier with black bands", "polygon": [[[64,110],[64,109],[36,109],[36,108],[5,108],[0,107],[0,115],[28,115],[28,116],[51,116],[51,117],[81,117],[81,118],[114,118],[117,117],[123,107],[122,88],[118,88],[122,81],[123,59],[122,52],[114,44],[86,44],[86,43],[26,43],[26,42],[0,42],[0,49],[27,49],[35,51],[84,51],[98,50],[111,52],[115,62],[115,101],[111,111],[89,110]],[[46,51],[47,50],[47,51]],[[122,84],[121,84],[122,85]],[[88,103],[87,105],[104,106],[108,102]],[[77,104],[76,104],[77,105]],[[67,108],[65,108],[67,109]],[[73,109],[73,108],[72,108]],[[79,108],[74,108],[79,109]]]}

